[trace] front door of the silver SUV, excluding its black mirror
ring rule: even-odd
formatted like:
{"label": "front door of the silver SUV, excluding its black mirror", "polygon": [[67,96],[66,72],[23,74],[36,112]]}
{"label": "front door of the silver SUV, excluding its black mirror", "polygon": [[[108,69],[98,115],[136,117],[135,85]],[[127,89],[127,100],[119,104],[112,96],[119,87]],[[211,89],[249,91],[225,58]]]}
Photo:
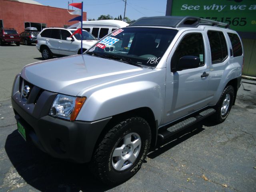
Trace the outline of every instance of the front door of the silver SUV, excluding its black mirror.
{"label": "front door of the silver SUV, excluding its black mirror", "polygon": [[[204,32],[184,32],[172,49],[166,69],[166,106],[164,122],[172,122],[207,105],[209,54]],[[183,56],[200,58],[197,68],[178,70]]]}

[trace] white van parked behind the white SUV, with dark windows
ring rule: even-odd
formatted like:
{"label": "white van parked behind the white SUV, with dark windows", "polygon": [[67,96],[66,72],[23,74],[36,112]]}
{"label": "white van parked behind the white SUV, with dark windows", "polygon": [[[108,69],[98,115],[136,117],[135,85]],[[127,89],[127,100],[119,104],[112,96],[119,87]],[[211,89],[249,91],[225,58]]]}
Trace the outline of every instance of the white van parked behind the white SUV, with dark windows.
{"label": "white van parked behind the white SUV, with dark windows", "polygon": [[[83,21],[83,30],[88,31],[96,38],[101,39],[112,31],[128,25],[128,23],[120,20]],[[80,22],[68,28],[80,28]]]}

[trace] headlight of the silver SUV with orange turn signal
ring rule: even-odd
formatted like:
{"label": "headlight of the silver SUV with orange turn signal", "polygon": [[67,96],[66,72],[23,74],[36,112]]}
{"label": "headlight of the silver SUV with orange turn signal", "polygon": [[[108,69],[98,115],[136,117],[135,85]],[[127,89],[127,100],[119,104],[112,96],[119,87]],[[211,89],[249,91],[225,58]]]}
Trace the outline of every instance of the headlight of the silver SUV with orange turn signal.
{"label": "headlight of the silver SUV with orange turn signal", "polygon": [[86,97],[73,97],[58,94],[52,104],[49,114],[51,116],[74,121],[85,100]]}

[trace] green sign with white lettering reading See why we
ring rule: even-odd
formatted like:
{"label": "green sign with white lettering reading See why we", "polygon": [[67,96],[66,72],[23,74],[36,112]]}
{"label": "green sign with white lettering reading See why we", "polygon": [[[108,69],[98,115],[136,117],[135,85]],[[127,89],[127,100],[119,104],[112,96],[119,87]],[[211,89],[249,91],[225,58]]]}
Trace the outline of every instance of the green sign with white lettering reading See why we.
{"label": "green sign with white lettering reading See why we", "polygon": [[236,31],[256,32],[256,0],[173,0],[172,16],[197,16]]}

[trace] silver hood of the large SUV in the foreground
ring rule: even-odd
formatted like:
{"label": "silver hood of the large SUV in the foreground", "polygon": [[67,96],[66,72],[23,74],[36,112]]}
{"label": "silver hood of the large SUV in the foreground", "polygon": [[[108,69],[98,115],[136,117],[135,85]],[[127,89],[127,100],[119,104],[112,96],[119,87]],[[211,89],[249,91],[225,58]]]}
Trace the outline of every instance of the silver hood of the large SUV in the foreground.
{"label": "silver hood of the large SUV in the foreground", "polygon": [[77,96],[88,88],[145,70],[115,60],[75,55],[29,64],[22,69],[21,76],[44,90]]}

